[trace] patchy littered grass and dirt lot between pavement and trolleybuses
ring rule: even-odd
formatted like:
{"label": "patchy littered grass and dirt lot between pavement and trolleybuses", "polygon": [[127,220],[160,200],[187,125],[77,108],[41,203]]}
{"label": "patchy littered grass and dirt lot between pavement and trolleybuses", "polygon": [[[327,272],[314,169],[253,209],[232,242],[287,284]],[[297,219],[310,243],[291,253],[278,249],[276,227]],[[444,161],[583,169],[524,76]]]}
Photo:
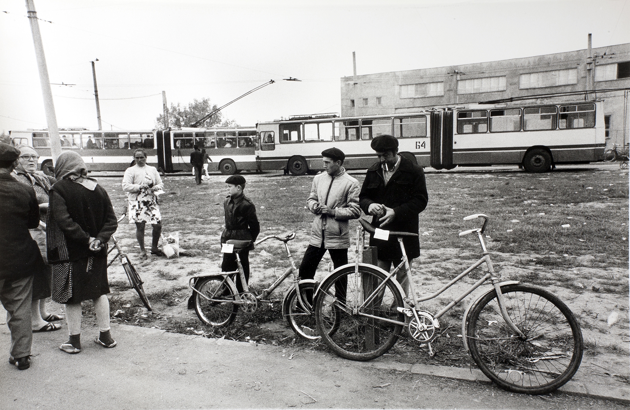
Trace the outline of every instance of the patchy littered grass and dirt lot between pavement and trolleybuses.
{"label": "patchy littered grass and dirt lot between pavement and trolleybuses", "polygon": [[[604,174],[602,174],[604,172]],[[608,173],[609,175],[605,175]],[[602,175],[615,179],[617,188],[625,184],[625,193],[621,192],[618,197],[601,195],[590,197],[591,191],[581,184],[582,180],[587,180],[587,185],[592,185],[590,180],[601,180]],[[261,233],[259,239],[266,235],[279,235],[294,231],[296,238],[289,242],[289,247],[294,255],[296,264],[299,265],[304,249],[307,246],[310,234],[311,215],[304,209],[304,204],[311,187],[312,176],[293,177],[289,175],[267,175],[267,174],[244,174],[248,180],[246,195],[251,197],[258,209],[258,216],[261,220]],[[363,180],[362,173],[354,173],[359,182]],[[455,186],[455,196],[453,193],[442,189],[440,184],[449,182]],[[455,178],[455,179],[454,179]],[[512,181],[510,189],[514,189],[515,184],[521,181],[525,188],[534,189],[534,184],[549,184],[549,189],[553,192],[550,178],[558,179],[558,184],[563,184],[561,179],[578,180],[583,187],[585,195],[584,202],[577,199],[548,198],[547,200],[532,200],[525,203],[522,198],[515,202],[517,209],[525,209],[520,212],[517,219],[503,223],[505,218],[491,219],[491,225],[496,227],[495,231],[488,230],[486,245],[491,251],[491,257],[495,262],[495,269],[501,272],[505,280],[521,280],[525,283],[541,285],[549,291],[554,292],[571,308],[578,317],[585,340],[585,354],[581,363],[580,372],[576,378],[583,379],[587,375],[595,375],[604,378],[607,384],[612,386],[628,387],[630,377],[629,367],[629,291],[628,291],[628,250],[627,250],[627,224],[628,224],[628,199],[627,199],[627,171],[598,171],[587,170],[582,172],[571,172],[565,174],[551,174],[540,177],[540,175],[525,174],[524,172],[502,172],[495,174],[479,174],[460,172],[458,174],[431,173],[427,174],[427,187],[429,189],[430,206],[435,208],[447,208],[439,211],[439,214],[429,214],[429,218],[435,219],[436,223],[442,218],[447,218],[444,226],[432,224],[431,219],[425,213],[421,215],[420,231],[421,248],[423,252],[420,258],[414,261],[415,287],[418,294],[425,295],[436,291],[442,285],[449,282],[459,272],[476,260],[479,256],[479,244],[471,240],[458,238],[457,233],[462,230],[471,229],[474,226],[461,222],[460,216],[478,213],[479,209],[484,211],[490,208],[490,201],[493,202],[493,212],[500,211],[501,206],[507,206],[501,200],[507,198],[500,194],[493,195],[487,192],[474,194],[474,184],[481,181],[483,184],[490,182],[488,179],[496,180],[500,186],[497,189],[506,189],[504,180]],[[536,178],[536,179],[534,179]],[[611,179],[611,180],[612,180]],[[197,249],[202,253],[199,257],[180,257],[166,259],[164,257],[149,256],[149,260],[140,261],[137,257],[137,242],[135,240],[135,226],[127,223],[127,219],[120,223],[116,237],[120,244],[130,253],[131,260],[145,281],[144,288],[154,306],[152,312],[147,312],[142,308],[139,298],[129,289],[129,284],[122,267],[115,263],[110,268],[110,285],[112,294],[110,301],[112,304],[112,318],[120,323],[137,324],[138,326],[156,327],[175,331],[178,333],[189,333],[203,335],[207,337],[231,338],[251,343],[265,343],[272,345],[287,345],[290,348],[301,350],[326,350],[326,346],[321,342],[303,341],[296,338],[288,324],[282,321],[280,311],[281,300],[286,284],[273,293],[272,297],[277,297],[278,301],[271,306],[259,304],[258,311],[248,316],[239,312],[238,317],[229,328],[210,328],[203,326],[195,315],[195,311],[186,308],[186,301],[192,291],[188,289],[188,279],[192,275],[215,274],[221,271],[221,252],[219,236],[223,228],[222,200],[226,195],[223,175],[212,175],[205,180],[202,186],[195,186],[191,176],[168,175],[165,179],[166,195],[163,196],[161,210],[164,218],[164,235],[178,232],[180,236],[180,247],[184,249]],[[454,182],[454,181],[458,181]],[[534,180],[534,182],[532,182]],[[617,182],[619,180],[619,182]],[[547,182],[549,181],[549,182]],[[460,184],[469,187],[458,187]],[[126,195],[120,188],[119,178],[101,178],[100,184],[109,192],[112,202],[117,208],[117,213],[125,206]],[[613,183],[610,182],[610,186]],[[473,186],[471,190],[470,187]],[[594,185],[593,185],[594,186]],[[544,190],[544,187],[538,187]],[[572,188],[571,188],[572,189]],[[590,189],[590,188],[588,188]],[[601,188],[609,191],[608,188]],[[487,191],[487,190],[484,190]],[[593,191],[594,192],[594,191]],[[605,193],[605,192],[604,192]],[[503,192],[504,195],[510,193]],[[540,194],[540,192],[538,192]],[[578,192],[575,192],[578,194]],[[486,195],[486,196],[484,196]],[[490,196],[488,196],[490,195]],[[553,194],[552,194],[553,196]],[[459,197],[459,198],[457,198]],[[479,203],[473,205],[474,199]],[[524,226],[527,224],[528,231],[544,230],[542,226],[537,226],[540,221],[529,220],[527,209],[530,209],[530,216],[551,215],[557,212],[559,202],[573,201],[563,205],[571,211],[573,216],[558,216],[561,223],[570,222],[573,226],[584,224],[583,231],[575,239],[575,245],[563,243],[563,238],[554,239],[546,247],[536,248],[534,245],[528,247],[527,244],[520,246],[516,239],[506,240],[505,235],[510,235],[511,228],[517,230],[517,224]],[[554,203],[551,203],[553,201]],[[440,203],[441,202],[441,203]],[[544,203],[546,202],[546,203]],[[537,208],[531,208],[531,206]],[[553,208],[556,207],[556,208]],[[428,210],[429,208],[427,208]],[[536,214],[534,213],[536,211]],[[544,211],[544,212],[539,212]],[[435,212],[435,211],[431,211]],[[490,211],[486,211],[490,216],[494,216]],[[604,224],[604,230],[587,229],[588,221],[592,223],[589,215],[601,215],[605,213],[608,225]],[[456,214],[457,221],[453,221]],[[460,215],[461,214],[461,215]],[[510,212],[505,211],[505,214]],[[507,217],[512,218],[512,216]],[[540,217],[539,217],[540,218]],[[567,220],[566,218],[569,218]],[[501,220],[500,220],[501,219]],[[571,220],[573,219],[573,220]],[[514,222],[516,221],[516,222]],[[554,222],[555,223],[555,222]],[[559,222],[560,223],[560,222]],[[558,224],[559,224],[558,223]],[[354,237],[351,225],[351,235]],[[469,223],[470,224],[470,223]],[[503,224],[503,225],[501,225]],[[435,228],[429,228],[435,226]],[[600,226],[600,223],[597,223]],[[612,235],[612,226],[619,228],[619,237],[607,237]],[[605,228],[608,227],[608,230]],[[554,228],[555,229],[555,228]],[[507,231],[507,233],[505,233]],[[557,231],[557,230],[556,230]],[[606,233],[609,231],[609,233]],[[555,231],[554,231],[555,232]],[[562,231],[560,231],[562,232]],[[595,233],[593,233],[595,232]],[[624,234],[625,232],[625,234]],[[530,233],[523,235],[531,235]],[[556,235],[553,233],[553,235]],[[551,235],[551,236],[553,236]],[[580,236],[581,235],[581,236]],[[590,238],[597,236],[597,238]],[[625,235],[625,236],[623,236]],[[147,243],[150,241],[150,230],[147,229]],[[549,236],[549,235],[546,235]],[[576,238],[578,237],[576,236]],[[601,238],[600,238],[601,237]],[[447,238],[447,239],[445,239]],[[599,239],[598,239],[599,238]],[[530,238],[531,239],[531,238]],[[600,247],[597,240],[615,240],[623,242],[621,248],[615,248],[611,252],[610,247]],[[445,242],[446,241],[446,242]],[[534,238],[533,242],[537,240]],[[558,246],[554,246],[553,243]],[[591,248],[585,248],[580,252],[571,252],[571,247],[584,247],[585,243],[597,243]],[[459,246],[453,246],[459,245]],[[512,246],[517,245],[517,246]],[[536,250],[536,252],[532,251]],[[541,249],[546,249],[542,252]],[[619,249],[621,253],[617,252]],[[506,250],[510,252],[505,252]],[[262,255],[261,255],[262,253]],[[353,253],[349,253],[348,258],[352,262]],[[275,240],[266,241],[258,245],[256,250],[250,253],[251,263],[250,285],[258,289],[263,289],[268,284],[284,272],[288,267],[286,252],[282,243]],[[328,273],[329,258],[326,255],[319,265],[316,279],[323,279]],[[452,289],[440,297],[426,302],[424,309],[437,311],[438,306],[444,306],[450,299],[449,296],[457,294],[473,284],[480,274],[473,272],[469,277],[458,282]],[[476,279],[475,279],[476,278]],[[481,288],[483,289],[483,287]],[[478,294],[481,289],[473,292]],[[450,365],[457,367],[473,366],[471,358],[462,352],[461,343],[461,319],[467,302],[471,297],[467,297],[455,308],[451,309],[440,319],[441,333],[433,342],[433,348],[437,355],[428,357],[427,348],[418,345],[410,336],[401,337],[399,342],[387,353],[389,360],[397,360],[404,363],[428,363]],[[59,307],[60,308],[60,307]],[[86,307],[89,315],[90,308]],[[609,325],[607,320],[611,313],[616,313],[618,319],[616,323]]]}

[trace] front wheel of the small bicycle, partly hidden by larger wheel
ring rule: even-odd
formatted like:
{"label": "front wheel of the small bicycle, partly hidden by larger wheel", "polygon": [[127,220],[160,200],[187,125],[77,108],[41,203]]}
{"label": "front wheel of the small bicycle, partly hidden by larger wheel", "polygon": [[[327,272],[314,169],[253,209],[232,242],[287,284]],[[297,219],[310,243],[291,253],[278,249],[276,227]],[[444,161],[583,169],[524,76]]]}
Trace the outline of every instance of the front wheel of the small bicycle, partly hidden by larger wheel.
{"label": "front wheel of the small bicycle, partly hidden by larger wheel", "polygon": [[300,296],[305,306],[302,306],[299,299],[297,299],[295,287],[291,289],[287,297],[287,320],[289,321],[289,326],[297,335],[311,340],[316,340],[320,337],[312,307],[314,291],[315,284],[305,283],[300,285]]}

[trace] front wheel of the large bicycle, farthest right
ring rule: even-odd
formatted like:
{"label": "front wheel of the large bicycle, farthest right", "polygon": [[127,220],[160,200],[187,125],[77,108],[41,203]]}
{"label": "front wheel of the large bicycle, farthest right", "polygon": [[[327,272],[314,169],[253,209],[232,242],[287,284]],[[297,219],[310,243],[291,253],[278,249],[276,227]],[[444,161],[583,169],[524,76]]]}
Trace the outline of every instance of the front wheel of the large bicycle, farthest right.
{"label": "front wheel of the large bicycle, farthest right", "polygon": [[501,287],[508,316],[525,334],[515,335],[499,308],[496,291],[484,296],[466,318],[473,360],[501,388],[546,394],[568,382],[580,367],[582,333],[558,297],[530,285]]}

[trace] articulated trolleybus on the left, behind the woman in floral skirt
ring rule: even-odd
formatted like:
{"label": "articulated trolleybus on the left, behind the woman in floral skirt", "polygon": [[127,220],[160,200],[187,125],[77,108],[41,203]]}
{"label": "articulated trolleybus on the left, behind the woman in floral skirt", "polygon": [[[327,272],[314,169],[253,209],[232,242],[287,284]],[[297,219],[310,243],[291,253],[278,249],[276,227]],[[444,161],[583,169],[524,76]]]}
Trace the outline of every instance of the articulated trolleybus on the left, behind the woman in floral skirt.
{"label": "articulated trolleybus on the left, behind the woman in floral skirt", "polygon": [[[38,168],[50,173],[50,138],[47,130],[9,131],[14,146],[25,144],[40,155]],[[258,170],[254,151],[256,128],[185,128],[182,130],[89,131],[59,130],[62,150],[77,150],[90,171],[123,171],[134,164],[134,150],[144,148],[147,163],[164,172],[190,171],[193,146],[205,148],[208,169],[232,175]]]}

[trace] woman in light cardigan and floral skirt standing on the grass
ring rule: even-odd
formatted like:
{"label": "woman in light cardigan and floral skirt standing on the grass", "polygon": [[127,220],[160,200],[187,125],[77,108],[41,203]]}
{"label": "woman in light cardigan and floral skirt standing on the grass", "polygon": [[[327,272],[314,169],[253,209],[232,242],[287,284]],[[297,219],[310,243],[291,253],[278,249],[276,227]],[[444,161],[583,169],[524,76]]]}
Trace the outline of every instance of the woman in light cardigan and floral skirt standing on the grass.
{"label": "woman in light cardigan and floral skirt standing on the grass", "polygon": [[147,165],[147,153],[138,148],[134,152],[135,165],[125,170],[122,189],[129,199],[129,223],[135,223],[135,238],[140,245],[140,259],[146,260],[144,249],[144,226],[153,225],[151,254],[163,256],[157,248],[162,234],[162,216],[159,213],[156,192],[164,189],[162,179],[156,167]]}

